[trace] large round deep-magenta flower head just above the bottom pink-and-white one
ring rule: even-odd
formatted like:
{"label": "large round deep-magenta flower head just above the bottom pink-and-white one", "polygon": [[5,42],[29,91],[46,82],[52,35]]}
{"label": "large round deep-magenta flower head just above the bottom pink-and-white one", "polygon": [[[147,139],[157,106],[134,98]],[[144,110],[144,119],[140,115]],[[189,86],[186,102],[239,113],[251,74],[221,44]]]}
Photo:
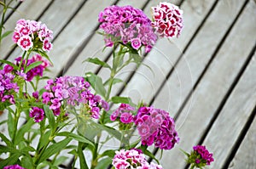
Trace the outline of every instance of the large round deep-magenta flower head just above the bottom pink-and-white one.
{"label": "large round deep-magenta flower head just above the bottom pink-and-white one", "polygon": [[174,120],[165,110],[141,107],[134,117],[143,145],[172,149],[179,142]]}

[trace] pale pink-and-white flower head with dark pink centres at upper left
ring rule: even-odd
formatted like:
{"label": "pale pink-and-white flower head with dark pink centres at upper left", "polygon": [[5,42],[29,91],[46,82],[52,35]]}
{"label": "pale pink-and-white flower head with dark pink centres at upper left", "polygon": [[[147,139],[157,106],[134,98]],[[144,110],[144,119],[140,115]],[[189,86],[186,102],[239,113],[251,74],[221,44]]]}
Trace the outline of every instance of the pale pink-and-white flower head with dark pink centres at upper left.
{"label": "pale pink-and-white flower head with dark pink centres at upper left", "polygon": [[33,47],[41,48],[49,52],[52,48],[53,32],[46,25],[35,20],[20,19],[15,26],[13,41],[19,45],[22,50],[29,50]]}

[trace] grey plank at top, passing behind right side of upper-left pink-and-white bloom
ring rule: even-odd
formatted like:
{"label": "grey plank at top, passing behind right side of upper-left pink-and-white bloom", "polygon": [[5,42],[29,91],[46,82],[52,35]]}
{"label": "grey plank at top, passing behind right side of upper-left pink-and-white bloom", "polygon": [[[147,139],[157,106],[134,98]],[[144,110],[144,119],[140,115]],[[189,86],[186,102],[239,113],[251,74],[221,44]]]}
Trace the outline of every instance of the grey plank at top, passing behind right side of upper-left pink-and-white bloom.
{"label": "grey plank at top, passing behind right side of upper-left pink-and-white bloom", "polygon": [[[62,0],[55,0],[39,20],[53,31],[53,37],[55,38],[82,3],[84,3],[84,0],[78,0],[76,3],[73,3],[72,0],[64,2]],[[58,47],[54,45],[53,48]],[[9,60],[14,60],[20,54],[22,54],[22,50],[15,48],[15,51],[9,56]],[[49,55],[51,55],[51,52],[49,52]]]}

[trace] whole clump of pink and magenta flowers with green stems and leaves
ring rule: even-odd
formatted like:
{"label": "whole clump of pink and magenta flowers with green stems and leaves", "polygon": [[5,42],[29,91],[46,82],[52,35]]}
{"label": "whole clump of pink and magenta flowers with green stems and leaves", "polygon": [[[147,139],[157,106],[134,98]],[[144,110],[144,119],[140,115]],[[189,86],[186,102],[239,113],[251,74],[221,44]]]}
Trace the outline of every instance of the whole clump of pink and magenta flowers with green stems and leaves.
{"label": "whole clump of pink and magenta flowers with green stems and leaves", "polygon": [[[45,73],[53,66],[48,55],[53,32],[40,21],[18,20],[13,42],[23,54],[14,62],[0,60],[0,110],[8,113],[8,120],[0,124],[7,124],[9,132],[9,136],[0,133],[4,142],[0,153],[8,155],[0,161],[0,168],[58,168],[67,160],[61,153],[64,149],[73,155],[73,168],[77,160],[80,168],[162,168],[148,147],[175,148],[180,138],[174,119],[166,110],[111,94],[115,84],[123,82],[116,75],[125,66],[142,64],[142,50],[149,53],[158,37],[181,34],[183,11],[172,3],[152,7],[152,18],[131,6],[113,5],[99,14],[99,33],[106,48],[113,48],[113,63],[98,58],[85,61],[110,70],[106,82],[92,72],[48,79]],[[3,23],[1,26],[2,30]],[[44,87],[39,87],[45,79]],[[25,120],[21,127],[20,120]],[[138,139],[131,142],[135,130]],[[113,138],[119,146],[102,149]],[[90,151],[91,161],[84,150]],[[191,168],[209,166],[213,161],[205,146],[183,153]],[[146,156],[154,161],[149,163]]]}

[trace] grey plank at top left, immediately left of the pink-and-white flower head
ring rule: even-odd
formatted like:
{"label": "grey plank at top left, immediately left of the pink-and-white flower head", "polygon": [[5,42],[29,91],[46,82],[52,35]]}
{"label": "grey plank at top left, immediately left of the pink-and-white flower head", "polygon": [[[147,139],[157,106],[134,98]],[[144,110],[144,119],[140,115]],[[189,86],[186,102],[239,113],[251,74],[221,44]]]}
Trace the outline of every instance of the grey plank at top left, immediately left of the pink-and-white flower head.
{"label": "grey plank at top left, immediately left of the pink-and-white flower head", "polygon": [[[20,20],[21,18],[24,18],[26,20],[36,20],[50,2],[50,0],[45,0],[35,3],[34,0],[26,0],[25,2],[20,4],[16,12],[12,14],[9,20],[5,23],[5,29],[14,30],[16,21]],[[3,39],[3,43],[0,47],[0,59],[5,58],[13,44],[14,43],[11,37],[6,37]]]}

